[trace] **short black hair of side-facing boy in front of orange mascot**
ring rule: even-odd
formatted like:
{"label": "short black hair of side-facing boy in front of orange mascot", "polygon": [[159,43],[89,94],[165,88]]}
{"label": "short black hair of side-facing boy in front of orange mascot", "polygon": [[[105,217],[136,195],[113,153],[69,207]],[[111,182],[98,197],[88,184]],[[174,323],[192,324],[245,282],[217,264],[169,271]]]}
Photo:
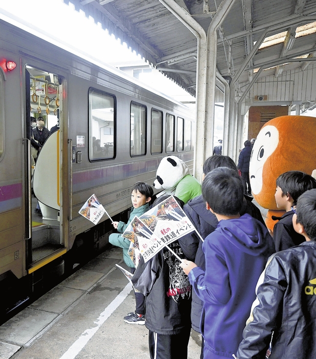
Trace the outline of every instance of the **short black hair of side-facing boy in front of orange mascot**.
{"label": "short black hair of side-facing boy in front of orange mascot", "polygon": [[316,180],[302,171],[287,171],[279,175],[277,186],[281,188],[283,195],[288,193],[293,198],[295,206],[301,194],[316,188]]}

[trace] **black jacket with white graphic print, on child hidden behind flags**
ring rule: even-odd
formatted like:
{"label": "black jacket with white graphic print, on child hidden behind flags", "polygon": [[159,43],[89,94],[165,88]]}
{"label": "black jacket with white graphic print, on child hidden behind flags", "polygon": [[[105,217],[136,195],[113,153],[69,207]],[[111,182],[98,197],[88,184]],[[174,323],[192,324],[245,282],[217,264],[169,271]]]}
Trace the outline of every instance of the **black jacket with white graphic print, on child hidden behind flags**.
{"label": "black jacket with white graphic print, on child hidden behind flags", "polygon": [[[168,246],[184,258],[178,241]],[[190,328],[191,291],[180,261],[164,248],[144,263],[143,257],[132,283],[145,295],[146,328],[158,334],[180,334]]]}

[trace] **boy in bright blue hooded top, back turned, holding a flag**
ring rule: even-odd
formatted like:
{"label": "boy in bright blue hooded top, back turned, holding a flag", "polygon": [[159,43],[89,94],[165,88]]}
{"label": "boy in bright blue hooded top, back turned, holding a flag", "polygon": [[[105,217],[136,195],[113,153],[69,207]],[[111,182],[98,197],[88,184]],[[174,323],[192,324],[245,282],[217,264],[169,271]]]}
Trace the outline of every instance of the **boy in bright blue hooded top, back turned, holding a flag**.
{"label": "boy in bright blue hooded top, back turned, holding a flag", "polygon": [[202,195],[219,221],[202,245],[206,270],[187,260],[181,266],[204,302],[204,358],[220,359],[232,357],[238,348],[257,281],[275,248],[262,223],[249,214],[240,216],[243,185],[236,171],[212,170],[202,183]]}

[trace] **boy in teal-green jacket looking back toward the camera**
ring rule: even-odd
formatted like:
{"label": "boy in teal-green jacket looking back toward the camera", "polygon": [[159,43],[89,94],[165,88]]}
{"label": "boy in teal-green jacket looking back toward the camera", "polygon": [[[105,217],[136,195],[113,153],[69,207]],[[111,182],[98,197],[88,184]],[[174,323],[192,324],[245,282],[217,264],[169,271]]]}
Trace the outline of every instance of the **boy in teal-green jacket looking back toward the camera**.
{"label": "boy in teal-green jacket looking back toward the camera", "polygon": [[[112,222],[114,228],[118,230],[119,233],[112,233],[109,235],[109,242],[117,247],[123,249],[123,260],[131,268],[131,273],[134,273],[135,266],[132,262],[131,258],[128,255],[128,249],[130,245],[130,241],[122,237],[120,233],[123,233],[131,220],[138,216],[140,217],[142,214],[149,210],[149,202],[153,195],[153,189],[151,186],[147,185],[145,182],[137,182],[134,184],[131,192],[131,201],[133,207],[130,211],[130,216],[127,223],[122,221],[120,222]],[[145,308],[144,302],[145,297],[141,293],[135,293],[135,300],[136,300],[136,311],[128,313],[126,317],[124,317],[124,322],[128,324],[145,324]]]}

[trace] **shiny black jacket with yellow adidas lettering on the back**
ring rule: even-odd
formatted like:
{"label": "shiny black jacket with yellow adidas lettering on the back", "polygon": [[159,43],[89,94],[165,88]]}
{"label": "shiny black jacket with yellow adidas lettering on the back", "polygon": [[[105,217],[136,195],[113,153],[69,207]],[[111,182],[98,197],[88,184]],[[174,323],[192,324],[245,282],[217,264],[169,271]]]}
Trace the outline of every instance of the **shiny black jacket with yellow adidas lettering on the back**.
{"label": "shiny black jacket with yellow adidas lettering on the back", "polygon": [[275,254],[257,291],[254,320],[243,331],[238,359],[316,358],[316,243]]}

